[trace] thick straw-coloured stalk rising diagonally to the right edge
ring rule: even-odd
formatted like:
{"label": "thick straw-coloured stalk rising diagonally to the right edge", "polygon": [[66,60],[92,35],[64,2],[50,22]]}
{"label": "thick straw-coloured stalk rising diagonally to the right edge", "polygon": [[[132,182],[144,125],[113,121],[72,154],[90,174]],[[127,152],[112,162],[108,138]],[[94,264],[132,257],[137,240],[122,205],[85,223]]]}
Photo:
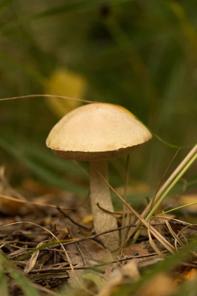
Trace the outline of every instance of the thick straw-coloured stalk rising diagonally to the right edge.
{"label": "thick straw-coloured stalk rising diagonally to the right edge", "polygon": [[[170,175],[170,177],[165,181],[164,185],[160,188],[160,190],[157,192],[157,195],[155,197],[155,202],[157,202],[161,196],[161,194],[164,192],[164,190],[170,185],[170,183],[174,180],[174,178],[178,175],[178,173],[184,168],[184,166],[188,163],[190,158],[197,153],[197,144],[190,150],[190,152],[186,155],[186,157],[182,160],[182,162],[177,166],[177,168],[174,170],[174,172]],[[145,218],[148,215],[148,212],[150,210],[152,202],[150,201],[147,207],[144,209],[144,211],[141,213],[141,217]],[[134,232],[136,232],[139,227],[141,226],[141,222],[138,220],[136,222],[136,227],[134,229],[131,229],[129,232],[128,238],[126,242],[129,241],[130,237],[133,235]]]}

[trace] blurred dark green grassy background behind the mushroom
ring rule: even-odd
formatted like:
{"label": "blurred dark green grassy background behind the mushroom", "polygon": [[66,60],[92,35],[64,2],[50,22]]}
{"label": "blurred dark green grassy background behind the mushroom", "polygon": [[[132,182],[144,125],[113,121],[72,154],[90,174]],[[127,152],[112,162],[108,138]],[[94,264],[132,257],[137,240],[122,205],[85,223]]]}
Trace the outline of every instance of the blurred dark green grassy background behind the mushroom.
{"label": "blurred dark green grassy background behind the mushroom", "polygon": [[[197,140],[196,1],[1,0],[0,98],[28,94],[128,108],[166,142],[185,147],[168,176]],[[0,102],[0,162],[13,185],[35,178],[86,194],[87,163],[79,168],[45,148],[69,104],[45,98]],[[154,192],[176,150],[154,138],[131,153],[135,196],[144,196],[144,188]],[[124,184],[125,173],[126,157],[110,162],[113,186]],[[195,165],[186,177],[197,179]]]}

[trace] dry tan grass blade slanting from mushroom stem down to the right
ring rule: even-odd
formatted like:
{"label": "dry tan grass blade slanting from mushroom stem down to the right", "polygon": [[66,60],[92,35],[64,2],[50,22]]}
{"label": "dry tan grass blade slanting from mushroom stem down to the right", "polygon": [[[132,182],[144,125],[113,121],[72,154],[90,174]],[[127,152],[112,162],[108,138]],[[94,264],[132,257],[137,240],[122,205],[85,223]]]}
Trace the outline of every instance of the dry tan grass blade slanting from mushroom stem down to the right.
{"label": "dry tan grass blade slanting from mushroom stem down to the right", "polygon": [[[99,173],[99,172],[98,172]],[[106,184],[110,187],[110,189],[116,194],[116,196],[131,210],[131,212],[143,223],[147,229],[155,236],[155,238],[170,252],[174,253],[176,249],[164,238],[164,236],[159,233],[152,225],[150,225],[144,218],[141,217],[131,206],[128,204],[117,192],[116,190],[102,177],[99,173],[100,177],[106,182]],[[161,253],[161,252],[159,252]]]}

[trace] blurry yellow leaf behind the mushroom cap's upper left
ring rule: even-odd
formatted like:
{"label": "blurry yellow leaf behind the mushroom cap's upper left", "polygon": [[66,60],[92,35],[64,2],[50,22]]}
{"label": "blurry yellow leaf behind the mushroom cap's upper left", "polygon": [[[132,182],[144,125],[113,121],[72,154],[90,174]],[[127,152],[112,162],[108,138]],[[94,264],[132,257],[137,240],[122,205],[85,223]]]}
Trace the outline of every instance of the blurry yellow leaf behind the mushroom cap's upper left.
{"label": "blurry yellow leaf behind the mushroom cap's upper left", "polygon": [[[83,98],[86,88],[87,82],[83,76],[64,69],[57,69],[44,84],[46,94],[77,99]],[[81,105],[80,102],[60,98],[46,98],[46,103],[58,117]]]}

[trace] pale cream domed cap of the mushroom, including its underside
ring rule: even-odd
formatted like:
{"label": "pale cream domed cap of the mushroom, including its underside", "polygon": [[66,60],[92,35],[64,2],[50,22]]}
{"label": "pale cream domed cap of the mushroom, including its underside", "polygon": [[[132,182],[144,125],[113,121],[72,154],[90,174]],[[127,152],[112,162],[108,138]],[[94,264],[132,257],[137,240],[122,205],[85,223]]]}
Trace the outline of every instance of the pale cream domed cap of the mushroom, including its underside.
{"label": "pale cream domed cap of the mushroom, including its underside", "polygon": [[46,146],[61,158],[94,161],[129,153],[151,138],[127,109],[93,103],[67,113],[50,131]]}

